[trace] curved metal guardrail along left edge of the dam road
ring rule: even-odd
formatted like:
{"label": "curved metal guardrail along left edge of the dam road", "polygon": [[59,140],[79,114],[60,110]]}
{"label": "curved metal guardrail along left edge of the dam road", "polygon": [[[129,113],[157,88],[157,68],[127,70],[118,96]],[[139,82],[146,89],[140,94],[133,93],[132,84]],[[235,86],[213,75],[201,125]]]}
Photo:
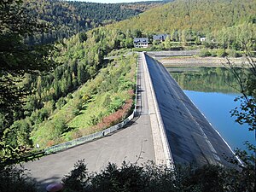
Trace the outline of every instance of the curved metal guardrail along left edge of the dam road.
{"label": "curved metal guardrail along left edge of the dam road", "polygon": [[[138,75],[138,60],[137,60],[137,75]],[[137,82],[137,77],[136,77],[136,82]],[[45,154],[53,154],[53,153],[56,153],[58,151],[65,150],[67,148],[73,148],[73,147],[78,146],[80,144],[88,143],[88,142],[91,142],[91,141],[96,140],[98,138],[105,137],[108,134],[123,128],[127,123],[129,123],[131,121],[131,119],[134,118],[135,114],[137,113],[137,83],[136,83],[136,92],[135,92],[135,94],[136,94],[136,96],[135,96],[135,107],[133,109],[133,112],[131,113],[131,115],[128,118],[126,118],[121,123],[119,123],[117,125],[113,125],[113,126],[109,127],[108,129],[90,134],[88,136],[79,137],[77,139],[74,139],[74,140],[66,142],[66,143],[61,143],[61,144],[54,145],[54,146],[49,147],[49,148],[45,148],[44,153]]]}

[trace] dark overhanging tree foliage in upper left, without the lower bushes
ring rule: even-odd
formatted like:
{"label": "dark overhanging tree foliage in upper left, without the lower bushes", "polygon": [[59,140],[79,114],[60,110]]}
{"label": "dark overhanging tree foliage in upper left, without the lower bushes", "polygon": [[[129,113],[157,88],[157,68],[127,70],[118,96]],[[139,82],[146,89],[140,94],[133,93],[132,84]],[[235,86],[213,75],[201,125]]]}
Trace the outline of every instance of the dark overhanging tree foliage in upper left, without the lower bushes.
{"label": "dark overhanging tree foliage in upper left, without the lower bushes", "polygon": [[2,1],[0,19],[0,112],[11,113],[20,108],[27,94],[25,87],[18,85],[24,74],[48,72],[55,67],[50,52],[55,47],[24,44],[26,36],[43,32],[48,26],[26,15],[20,1]]}

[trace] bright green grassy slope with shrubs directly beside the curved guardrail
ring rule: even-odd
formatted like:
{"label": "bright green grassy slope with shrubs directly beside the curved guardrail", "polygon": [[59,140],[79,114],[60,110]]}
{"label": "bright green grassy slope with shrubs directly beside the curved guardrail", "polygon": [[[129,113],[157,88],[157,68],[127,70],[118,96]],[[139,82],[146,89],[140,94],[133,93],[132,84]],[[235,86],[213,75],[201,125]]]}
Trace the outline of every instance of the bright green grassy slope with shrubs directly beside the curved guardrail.
{"label": "bright green grassy slope with shrubs directly beside the curved guardrail", "polygon": [[[48,147],[107,128],[116,121],[111,115],[118,115],[117,112],[121,113],[119,120],[124,119],[129,113],[128,105],[130,108],[132,105],[135,71],[136,55],[119,57],[108,64],[95,79],[90,79],[73,92],[73,98],[68,99],[63,108],[56,109],[48,121],[32,131],[33,142]],[[76,103],[81,108],[74,112]],[[108,117],[108,122],[103,120],[104,117]],[[56,121],[63,121],[67,125],[61,137],[58,137]]]}

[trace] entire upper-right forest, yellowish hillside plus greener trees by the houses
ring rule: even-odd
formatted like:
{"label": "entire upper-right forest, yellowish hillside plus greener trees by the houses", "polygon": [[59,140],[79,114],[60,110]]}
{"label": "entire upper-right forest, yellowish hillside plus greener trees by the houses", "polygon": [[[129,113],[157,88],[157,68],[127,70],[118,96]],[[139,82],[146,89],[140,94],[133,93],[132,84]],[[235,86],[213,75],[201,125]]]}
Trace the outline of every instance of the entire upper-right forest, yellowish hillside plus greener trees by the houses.
{"label": "entire upper-right forest, yellowish hillside plus greener trees by the houses", "polygon": [[207,37],[205,45],[211,49],[239,50],[244,44],[255,49],[255,15],[253,0],[178,0],[109,27],[137,30],[139,37],[149,39],[153,34],[170,34],[160,49],[201,44],[201,37]]}

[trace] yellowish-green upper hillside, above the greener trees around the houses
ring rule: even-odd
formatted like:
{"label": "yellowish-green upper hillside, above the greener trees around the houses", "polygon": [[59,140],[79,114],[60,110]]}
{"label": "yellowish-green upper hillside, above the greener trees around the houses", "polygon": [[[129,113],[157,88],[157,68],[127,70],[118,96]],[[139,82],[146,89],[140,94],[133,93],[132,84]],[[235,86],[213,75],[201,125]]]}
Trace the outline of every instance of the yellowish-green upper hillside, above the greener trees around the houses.
{"label": "yellowish-green upper hillside, above the greener trees around the houses", "polygon": [[234,26],[244,21],[255,22],[255,15],[254,0],[176,0],[116,23],[114,27],[145,33],[190,30],[207,34],[224,26]]}

